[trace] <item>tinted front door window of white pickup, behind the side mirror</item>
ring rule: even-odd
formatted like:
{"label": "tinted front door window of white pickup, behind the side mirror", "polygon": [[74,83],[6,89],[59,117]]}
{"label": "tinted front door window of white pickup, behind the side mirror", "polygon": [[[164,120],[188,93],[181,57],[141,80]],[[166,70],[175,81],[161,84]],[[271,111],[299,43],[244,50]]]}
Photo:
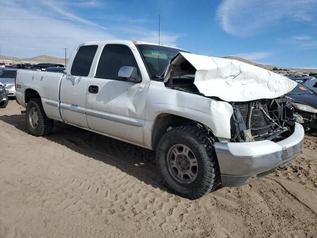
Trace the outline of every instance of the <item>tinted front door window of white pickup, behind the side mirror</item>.
{"label": "tinted front door window of white pickup, behind the side mirror", "polygon": [[121,80],[122,78],[118,77],[118,72],[122,66],[136,67],[138,75],[141,76],[137,61],[129,47],[106,45],[101,53],[95,77]]}

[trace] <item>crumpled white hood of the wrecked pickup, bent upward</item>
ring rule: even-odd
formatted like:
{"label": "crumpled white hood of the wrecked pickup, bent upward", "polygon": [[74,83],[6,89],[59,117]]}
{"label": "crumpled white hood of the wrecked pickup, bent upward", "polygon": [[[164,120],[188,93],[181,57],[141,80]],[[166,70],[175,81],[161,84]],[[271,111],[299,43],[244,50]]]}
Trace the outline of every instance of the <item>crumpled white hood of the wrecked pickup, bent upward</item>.
{"label": "crumpled white hood of the wrecked pickup, bent upward", "polygon": [[192,73],[182,66],[188,61],[195,69],[199,91],[207,97],[218,97],[227,102],[245,102],[280,97],[296,86],[296,82],[238,60],[229,60],[180,52],[170,60],[163,72],[167,82],[173,76]]}

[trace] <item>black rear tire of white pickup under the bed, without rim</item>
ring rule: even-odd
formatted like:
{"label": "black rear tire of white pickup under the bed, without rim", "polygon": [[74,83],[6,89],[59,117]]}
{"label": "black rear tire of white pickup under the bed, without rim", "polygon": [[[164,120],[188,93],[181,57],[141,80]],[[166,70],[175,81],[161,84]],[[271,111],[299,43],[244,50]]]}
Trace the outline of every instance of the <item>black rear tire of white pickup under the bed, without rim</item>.
{"label": "black rear tire of white pickup under the bed, without rim", "polygon": [[[35,109],[34,109],[35,108]],[[38,123],[36,126],[32,126],[30,121],[30,112],[36,110],[38,115]],[[49,119],[43,109],[41,98],[31,99],[26,106],[25,120],[27,127],[32,135],[44,136],[49,135],[53,129],[53,120]]]}

